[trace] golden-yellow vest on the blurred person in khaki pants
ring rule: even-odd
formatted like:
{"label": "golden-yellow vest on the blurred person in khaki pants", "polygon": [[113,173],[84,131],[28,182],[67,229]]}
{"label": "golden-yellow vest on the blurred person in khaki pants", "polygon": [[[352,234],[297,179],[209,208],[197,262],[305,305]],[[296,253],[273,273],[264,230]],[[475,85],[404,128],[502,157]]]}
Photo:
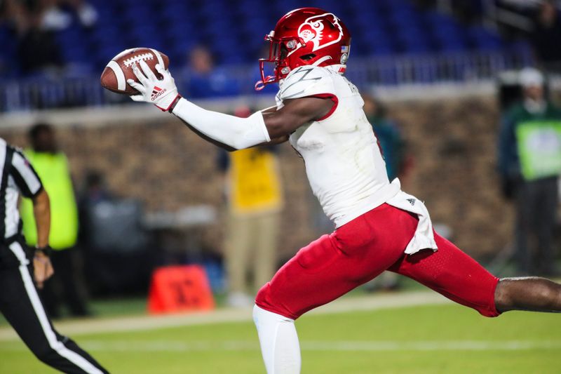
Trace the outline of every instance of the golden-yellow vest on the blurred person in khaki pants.
{"label": "golden-yellow vest on the blurred person in khaki pants", "polygon": [[278,211],[283,206],[276,156],[257,147],[232,152],[230,207],[234,213]]}

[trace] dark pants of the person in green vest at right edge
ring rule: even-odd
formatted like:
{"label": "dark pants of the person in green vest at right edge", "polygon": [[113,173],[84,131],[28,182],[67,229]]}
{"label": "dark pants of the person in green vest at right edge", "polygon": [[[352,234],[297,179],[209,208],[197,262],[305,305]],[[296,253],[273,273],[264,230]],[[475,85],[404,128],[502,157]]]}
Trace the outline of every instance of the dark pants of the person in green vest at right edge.
{"label": "dark pants of the person in green vest at right edge", "polygon": [[521,182],[516,192],[516,260],[520,275],[555,274],[553,231],[557,178]]}

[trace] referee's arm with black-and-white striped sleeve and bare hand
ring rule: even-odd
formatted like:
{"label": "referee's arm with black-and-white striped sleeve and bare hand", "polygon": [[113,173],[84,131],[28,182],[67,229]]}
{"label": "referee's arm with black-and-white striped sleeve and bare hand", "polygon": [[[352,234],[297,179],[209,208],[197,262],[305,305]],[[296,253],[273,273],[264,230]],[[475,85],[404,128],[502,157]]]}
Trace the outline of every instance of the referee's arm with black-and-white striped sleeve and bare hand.
{"label": "referee's arm with black-and-white striped sleeve and bare hand", "polygon": [[[37,248],[48,248],[50,230],[50,203],[48,194],[41,184],[39,175],[31,163],[16,149],[12,156],[11,175],[22,196],[33,201],[33,215],[37,229]],[[48,254],[37,251],[34,256],[34,275],[37,286],[42,288],[43,281],[53,275],[53,266]]]}

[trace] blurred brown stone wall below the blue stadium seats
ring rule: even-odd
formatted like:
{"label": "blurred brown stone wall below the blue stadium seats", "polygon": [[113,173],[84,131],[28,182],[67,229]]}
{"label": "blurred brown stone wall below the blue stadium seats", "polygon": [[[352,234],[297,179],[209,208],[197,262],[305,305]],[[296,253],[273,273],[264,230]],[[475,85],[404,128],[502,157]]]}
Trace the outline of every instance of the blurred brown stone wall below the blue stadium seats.
{"label": "blurred brown stone wall below the blue stadium seats", "polygon": [[[149,109],[151,116],[142,116],[143,107],[136,117],[124,115],[119,121],[103,116],[96,120],[87,112],[61,121],[60,147],[69,157],[76,185],[87,171],[95,170],[106,176],[116,194],[142,199],[148,211],[174,211],[199,203],[221,209],[217,149],[173,116]],[[452,228],[454,241],[466,252],[480,257],[506,246],[513,211],[500,196],[496,175],[495,96],[392,101],[388,114],[400,123],[414,157],[404,189],[426,202],[434,222]],[[0,136],[25,147],[21,125],[0,127]],[[311,225],[316,203],[302,160],[288,144],[280,146],[280,160],[287,204],[279,248],[287,257],[321,230]],[[211,246],[222,247],[221,232],[220,227],[208,229],[205,238]]]}

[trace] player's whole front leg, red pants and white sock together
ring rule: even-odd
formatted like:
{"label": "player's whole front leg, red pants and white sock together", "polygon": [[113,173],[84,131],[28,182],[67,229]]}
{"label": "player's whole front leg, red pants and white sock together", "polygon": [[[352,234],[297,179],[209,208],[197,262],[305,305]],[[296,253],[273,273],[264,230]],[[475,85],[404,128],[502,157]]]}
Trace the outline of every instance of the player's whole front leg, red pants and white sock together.
{"label": "player's whole front leg, red pants and white sock together", "polygon": [[384,204],[321,236],[278,270],[257,293],[254,309],[267,373],[299,373],[294,320],[391,266],[403,256],[417,222]]}

